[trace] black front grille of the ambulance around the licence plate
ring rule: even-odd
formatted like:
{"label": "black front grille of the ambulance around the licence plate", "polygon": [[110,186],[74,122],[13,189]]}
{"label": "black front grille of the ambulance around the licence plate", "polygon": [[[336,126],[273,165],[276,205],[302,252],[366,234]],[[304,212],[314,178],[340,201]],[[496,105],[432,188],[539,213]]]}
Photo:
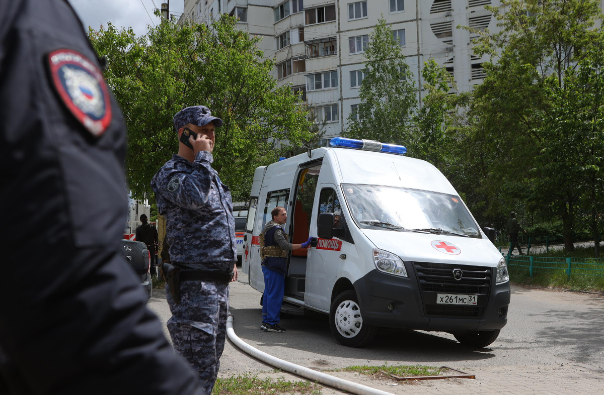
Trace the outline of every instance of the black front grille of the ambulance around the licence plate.
{"label": "black front grille of the ambulance around the licence plate", "polygon": [[[493,269],[471,265],[445,265],[414,262],[427,317],[481,318],[489,299]],[[461,279],[453,276],[461,270]],[[437,294],[478,295],[477,305],[439,305]]]}

